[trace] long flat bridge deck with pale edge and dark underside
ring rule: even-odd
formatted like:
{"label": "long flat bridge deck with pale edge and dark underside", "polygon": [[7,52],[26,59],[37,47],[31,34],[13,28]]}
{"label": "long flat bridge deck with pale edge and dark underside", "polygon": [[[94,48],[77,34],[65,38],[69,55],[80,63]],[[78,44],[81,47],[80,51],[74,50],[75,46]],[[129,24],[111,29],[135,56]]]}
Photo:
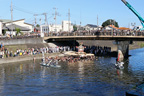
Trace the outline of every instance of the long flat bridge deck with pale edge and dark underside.
{"label": "long flat bridge deck with pale edge and dark underside", "polygon": [[48,41],[68,41],[68,40],[132,40],[144,41],[144,36],[49,36],[44,37]]}

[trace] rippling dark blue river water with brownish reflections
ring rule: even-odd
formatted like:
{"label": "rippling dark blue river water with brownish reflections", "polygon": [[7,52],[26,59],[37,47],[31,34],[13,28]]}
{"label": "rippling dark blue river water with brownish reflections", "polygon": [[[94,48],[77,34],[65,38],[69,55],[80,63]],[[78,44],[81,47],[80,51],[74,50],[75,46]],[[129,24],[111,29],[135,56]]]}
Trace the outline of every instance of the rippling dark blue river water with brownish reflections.
{"label": "rippling dark blue river water with brownish reflections", "polygon": [[61,68],[40,66],[40,61],[0,65],[0,96],[125,96],[144,82],[144,48],[130,51],[125,69],[117,70],[116,58],[98,57]]}

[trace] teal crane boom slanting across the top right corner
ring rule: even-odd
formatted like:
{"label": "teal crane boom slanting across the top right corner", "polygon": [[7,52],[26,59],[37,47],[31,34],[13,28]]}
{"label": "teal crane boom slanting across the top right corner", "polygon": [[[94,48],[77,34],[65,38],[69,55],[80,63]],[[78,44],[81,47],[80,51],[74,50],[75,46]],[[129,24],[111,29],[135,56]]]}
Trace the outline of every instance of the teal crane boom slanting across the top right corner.
{"label": "teal crane boom slanting across the top right corner", "polygon": [[143,26],[141,30],[144,30],[144,19],[141,17],[141,15],[126,0],[121,1],[138,17]]}

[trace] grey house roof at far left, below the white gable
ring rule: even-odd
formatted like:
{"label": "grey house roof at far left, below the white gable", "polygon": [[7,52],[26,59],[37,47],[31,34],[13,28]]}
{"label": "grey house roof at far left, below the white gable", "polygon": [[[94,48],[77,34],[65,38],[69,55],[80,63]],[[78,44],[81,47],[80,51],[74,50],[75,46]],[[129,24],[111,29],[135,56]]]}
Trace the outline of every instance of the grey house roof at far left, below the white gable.
{"label": "grey house roof at far left, below the white gable", "polygon": [[22,27],[22,26],[19,26],[19,25],[16,25],[16,24],[12,24],[8,25],[8,26],[4,26],[3,27],[3,30],[7,29],[7,30],[15,30],[16,28],[19,28],[21,31],[30,31],[30,29],[26,28],[26,27]]}

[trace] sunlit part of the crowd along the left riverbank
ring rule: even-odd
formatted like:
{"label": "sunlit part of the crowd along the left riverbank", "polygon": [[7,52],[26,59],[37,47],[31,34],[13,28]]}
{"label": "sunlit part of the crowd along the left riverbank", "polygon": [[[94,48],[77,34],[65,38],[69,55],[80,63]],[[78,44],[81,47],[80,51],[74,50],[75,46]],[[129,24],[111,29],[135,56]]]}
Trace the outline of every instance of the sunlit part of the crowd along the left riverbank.
{"label": "sunlit part of the crowd along the left riverbank", "polygon": [[10,51],[7,48],[4,48],[2,52],[4,52],[5,55],[3,55],[2,58],[17,57],[17,56],[24,56],[24,55],[36,55],[36,54],[41,54],[42,52],[56,53],[62,51],[70,51],[70,47],[60,46],[60,47],[28,48],[28,49],[17,49],[15,52]]}

